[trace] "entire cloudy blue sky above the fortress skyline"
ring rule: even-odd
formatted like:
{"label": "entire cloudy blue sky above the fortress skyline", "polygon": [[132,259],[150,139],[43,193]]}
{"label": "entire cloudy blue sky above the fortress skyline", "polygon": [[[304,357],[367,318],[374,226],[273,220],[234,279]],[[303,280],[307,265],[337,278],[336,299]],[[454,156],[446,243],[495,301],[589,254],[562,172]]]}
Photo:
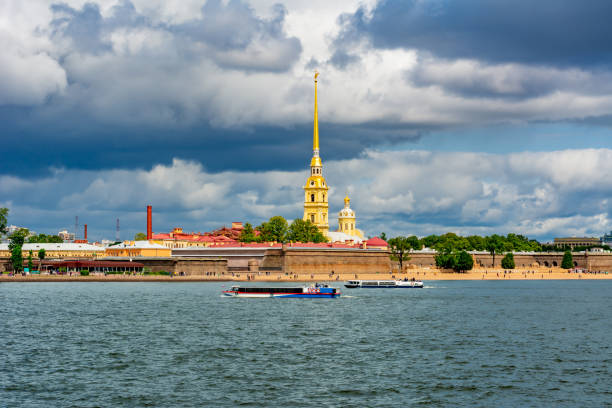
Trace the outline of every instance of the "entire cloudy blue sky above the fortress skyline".
{"label": "entire cloudy blue sky above the fortress skyline", "polygon": [[[0,207],[90,240],[301,218],[319,76],[330,229],[612,229],[612,2],[4,0]],[[82,233],[79,231],[79,235]]]}

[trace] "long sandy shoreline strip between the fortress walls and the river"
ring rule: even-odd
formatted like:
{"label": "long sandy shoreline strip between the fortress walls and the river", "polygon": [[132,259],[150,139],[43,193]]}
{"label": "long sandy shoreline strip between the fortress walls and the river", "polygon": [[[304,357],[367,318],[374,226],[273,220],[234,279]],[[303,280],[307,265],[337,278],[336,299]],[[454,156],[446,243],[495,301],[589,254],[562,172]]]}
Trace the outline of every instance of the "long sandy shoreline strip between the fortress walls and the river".
{"label": "long sandy shoreline strip between the fortress walls and the river", "polygon": [[259,281],[259,282],[316,282],[347,281],[351,279],[404,279],[417,280],[569,280],[612,279],[612,273],[574,272],[560,268],[530,269],[474,269],[466,273],[438,269],[410,269],[405,273],[376,274],[285,274],[285,273],[221,273],[210,275],[1,275],[0,282],[201,282],[201,281]]}

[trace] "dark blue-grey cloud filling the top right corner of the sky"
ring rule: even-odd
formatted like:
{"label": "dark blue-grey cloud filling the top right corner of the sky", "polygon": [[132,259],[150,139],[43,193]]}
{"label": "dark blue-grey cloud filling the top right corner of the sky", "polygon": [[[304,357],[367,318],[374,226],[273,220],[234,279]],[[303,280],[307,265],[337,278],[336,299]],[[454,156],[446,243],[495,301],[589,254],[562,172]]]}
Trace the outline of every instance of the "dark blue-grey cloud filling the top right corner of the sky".
{"label": "dark blue-grey cloud filling the top right corner of the sky", "polygon": [[448,59],[609,66],[611,15],[608,0],[383,0],[371,15],[364,8],[343,15],[335,47],[341,53],[365,38],[376,48]]}

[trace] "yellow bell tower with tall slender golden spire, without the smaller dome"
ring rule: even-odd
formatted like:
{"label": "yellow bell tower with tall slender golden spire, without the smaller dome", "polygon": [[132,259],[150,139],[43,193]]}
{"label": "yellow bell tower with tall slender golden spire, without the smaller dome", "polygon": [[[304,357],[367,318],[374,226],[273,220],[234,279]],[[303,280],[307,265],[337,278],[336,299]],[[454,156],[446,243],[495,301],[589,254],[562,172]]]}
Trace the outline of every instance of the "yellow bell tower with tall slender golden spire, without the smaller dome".
{"label": "yellow bell tower with tall slender golden spire, without the smaller dome", "polygon": [[312,159],[310,177],[304,186],[304,221],[310,220],[323,235],[329,232],[327,183],[323,177],[323,163],[319,157],[319,113],[317,107],[317,77],[315,72],[314,130],[312,135]]}

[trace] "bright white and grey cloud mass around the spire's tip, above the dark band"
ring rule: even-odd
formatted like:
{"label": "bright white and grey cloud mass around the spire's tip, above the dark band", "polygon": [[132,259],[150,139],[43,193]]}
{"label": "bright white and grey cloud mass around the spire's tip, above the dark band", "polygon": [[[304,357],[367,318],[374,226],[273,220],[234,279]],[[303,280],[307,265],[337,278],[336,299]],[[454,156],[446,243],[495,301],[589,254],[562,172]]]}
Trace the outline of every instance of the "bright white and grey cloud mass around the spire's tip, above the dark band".
{"label": "bright white and grey cloud mass around the spire's tip, above the dark band", "polygon": [[[67,23],[51,26],[57,17],[49,11],[52,1],[23,3],[5,2],[6,17],[0,18],[2,48],[20,50],[1,57],[0,103],[38,105],[58,95],[44,108],[47,118],[78,114],[104,124],[174,127],[199,121],[233,128],[305,124],[311,120],[313,59],[322,72],[323,122],[428,128],[612,113],[605,70],[438,60],[359,43],[351,51],[360,61],[338,69],[326,62],[337,18],[358,1],[289,1],[286,14],[273,1],[232,3],[231,9],[221,3],[214,16],[224,23],[210,28],[200,24],[211,13],[202,11],[203,0],[135,0],[131,25],[114,19],[121,3],[99,0],[104,34],[81,39],[107,43],[108,49],[96,52],[54,31]],[[85,1],[67,4],[77,13]],[[239,30],[227,29],[232,24]]]}

